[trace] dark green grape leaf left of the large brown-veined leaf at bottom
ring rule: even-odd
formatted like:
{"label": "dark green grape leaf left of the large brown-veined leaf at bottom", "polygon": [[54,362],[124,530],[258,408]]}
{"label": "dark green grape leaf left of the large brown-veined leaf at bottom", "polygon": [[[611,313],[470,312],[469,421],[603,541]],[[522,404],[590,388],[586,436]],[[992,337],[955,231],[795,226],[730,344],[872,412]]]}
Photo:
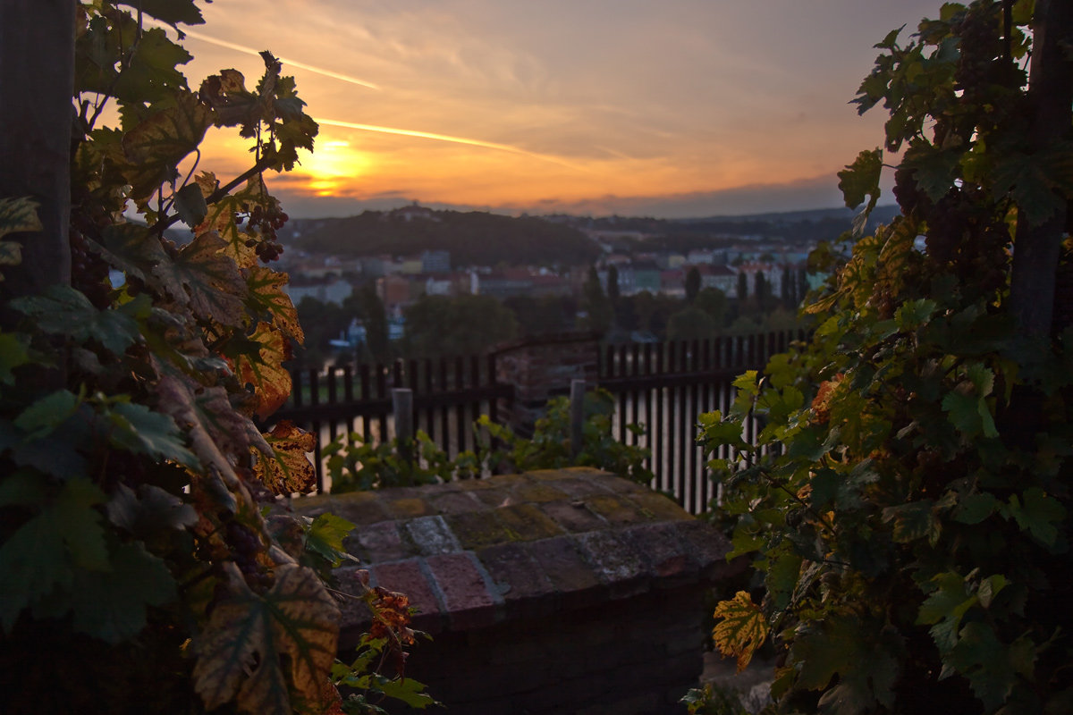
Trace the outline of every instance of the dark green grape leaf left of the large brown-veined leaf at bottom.
{"label": "dark green grape leaf left of the large brown-veined leaf at bottom", "polygon": [[164,606],[176,597],[167,565],[138,542],[115,547],[106,571],[76,571],[71,607],[74,629],[118,643],[146,625],[146,607]]}

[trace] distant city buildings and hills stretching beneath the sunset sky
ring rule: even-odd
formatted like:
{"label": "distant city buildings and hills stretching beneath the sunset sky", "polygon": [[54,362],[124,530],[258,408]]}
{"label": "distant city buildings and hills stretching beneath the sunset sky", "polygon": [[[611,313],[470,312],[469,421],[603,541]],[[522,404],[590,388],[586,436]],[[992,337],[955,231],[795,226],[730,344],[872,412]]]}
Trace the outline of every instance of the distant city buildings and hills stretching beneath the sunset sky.
{"label": "distant city buildings and hills stretching beneath the sunset sky", "polygon": [[[885,222],[894,210],[881,207],[872,220]],[[406,337],[415,304],[461,296],[515,308],[526,301],[555,303],[567,313],[556,324],[560,328],[596,327],[618,340],[650,341],[666,337],[665,321],[653,326],[650,317],[645,325],[622,317],[594,325],[587,315],[587,281],[594,275],[616,304],[629,307],[630,299],[648,294],[644,300],[685,306],[694,297],[688,285],[692,272],[694,295],[721,297],[716,317],[725,328],[748,312],[747,302],[751,313],[795,307],[822,280],[807,271],[809,252],[820,240],[849,230],[852,220],[848,209],[692,220],[512,219],[414,204],[351,219],[293,220],[280,232],[285,250],[279,267],[290,273],[286,291],[304,313],[304,325],[318,323],[320,316],[310,319],[310,314],[321,307],[338,324],[324,326],[325,334],[314,329],[309,336],[307,349],[318,356],[328,348],[359,349],[367,342],[367,301],[358,300],[363,291],[374,291],[393,342]],[[489,256],[485,262],[483,253]],[[351,314],[340,313],[348,308]],[[518,319],[527,323],[521,315]]]}

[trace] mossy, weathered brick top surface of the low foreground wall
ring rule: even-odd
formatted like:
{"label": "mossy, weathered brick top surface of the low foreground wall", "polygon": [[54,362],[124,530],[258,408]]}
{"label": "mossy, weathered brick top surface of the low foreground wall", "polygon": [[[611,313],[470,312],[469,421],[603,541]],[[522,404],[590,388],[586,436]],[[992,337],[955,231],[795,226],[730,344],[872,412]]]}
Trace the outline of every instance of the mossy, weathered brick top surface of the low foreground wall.
{"label": "mossy, weathered brick top surface of the low foreground wall", "polygon": [[[347,546],[370,583],[406,593],[418,609],[414,626],[433,635],[706,583],[736,570],[717,530],[662,494],[591,468],[327,494],[293,507],[355,522]],[[344,610],[340,645],[368,617],[363,608]]]}

